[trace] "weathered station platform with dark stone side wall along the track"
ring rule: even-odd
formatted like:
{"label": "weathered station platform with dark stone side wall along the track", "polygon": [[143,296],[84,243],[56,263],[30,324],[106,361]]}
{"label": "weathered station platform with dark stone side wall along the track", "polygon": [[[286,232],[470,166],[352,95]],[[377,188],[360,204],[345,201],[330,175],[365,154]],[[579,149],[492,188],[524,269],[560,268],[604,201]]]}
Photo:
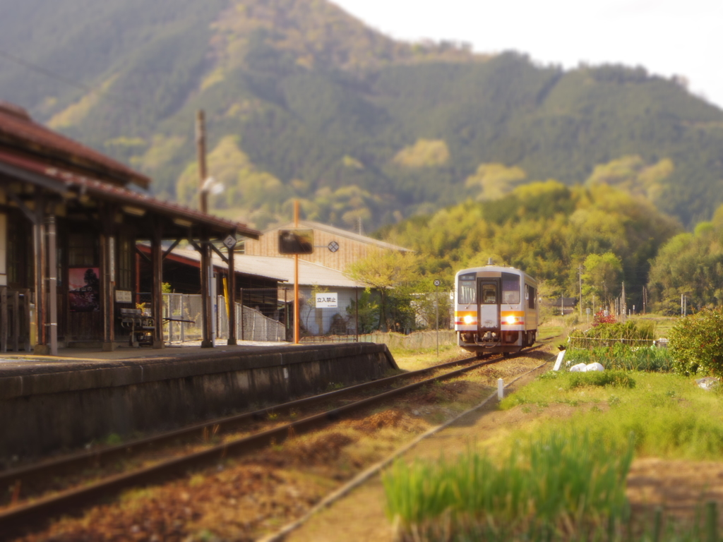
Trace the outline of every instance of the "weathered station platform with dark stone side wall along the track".
{"label": "weathered station platform with dark stone side wall along the track", "polygon": [[284,403],[398,369],[375,343],[0,355],[0,463]]}

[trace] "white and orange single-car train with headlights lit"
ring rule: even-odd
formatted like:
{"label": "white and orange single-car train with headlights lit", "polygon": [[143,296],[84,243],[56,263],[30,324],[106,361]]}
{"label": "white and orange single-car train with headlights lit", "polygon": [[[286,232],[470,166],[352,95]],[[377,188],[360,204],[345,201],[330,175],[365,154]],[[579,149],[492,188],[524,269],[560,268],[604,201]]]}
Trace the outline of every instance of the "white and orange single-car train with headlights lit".
{"label": "white and orange single-car train with headlights lit", "polygon": [[509,356],[537,338],[537,282],[522,270],[492,263],[455,275],[457,343],[476,356]]}

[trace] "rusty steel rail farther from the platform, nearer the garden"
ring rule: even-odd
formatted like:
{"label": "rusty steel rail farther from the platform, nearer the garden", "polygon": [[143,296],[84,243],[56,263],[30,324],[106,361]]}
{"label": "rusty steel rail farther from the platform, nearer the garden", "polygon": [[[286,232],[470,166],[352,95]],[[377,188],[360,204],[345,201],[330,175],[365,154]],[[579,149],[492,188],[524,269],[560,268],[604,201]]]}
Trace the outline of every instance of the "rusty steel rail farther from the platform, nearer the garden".
{"label": "rusty steel rail farther from the platform, nearer the garden", "polygon": [[[510,358],[521,356],[524,353],[529,352],[529,350],[534,350],[536,348],[539,348],[539,346],[520,350],[518,353],[510,356]],[[481,361],[476,364],[462,367],[461,369],[437,375],[436,377],[407,384],[406,386],[398,387],[387,392],[382,392],[378,395],[373,395],[372,397],[367,397],[365,399],[355,401],[354,403],[349,403],[348,405],[328,410],[327,412],[287,423],[274,429],[268,429],[267,431],[262,431],[251,436],[245,436],[223,444],[216,444],[208,447],[207,449],[192,452],[181,457],[174,457],[170,460],[164,460],[149,467],[132,470],[115,476],[108,476],[100,481],[90,483],[85,486],[60,491],[57,494],[40,497],[33,502],[9,507],[0,511],[0,528],[2,532],[9,533],[11,531],[25,528],[30,522],[37,525],[39,518],[48,520],[52,515],[56,515],[59,512],[69,512],[70,510],[78,509],[91,502],[98,502],[99,499],[117,494],[123,489],[128,489],[141,484],[145,485],[154,481],[161,481],[162,479],[165,480],[167,478],[171,478],[172,476],[183,475],[187,472],[187,470],[195,468],[198,465],[223,460],[231,454],[239,455],[245,452],[252,452],[255,449],[260,449],[270,444],[279,444],[286,441],[288,438],[296,436],[301,431],[308,431],[309,429],[315,429],[320,426],[326,426],[333,423],[338,420],[338,418],[341,418],[344,413],[349,413],[368,405],[380,403],[391,397],[416,390],[426,384],[431,384],[432,382],[440,382],[445,379],[459,376],[467,371],[491,364],[494,361],[495,360]],[[444,365],[454,365],[459,363],[460,361],[453,361]],[[435,366],[434,368],[439,368],[440,366],[442,366],[442,364]],[[328,396],[329,394],[323,395]],[[206,425],[208,426],[208,424]]]}

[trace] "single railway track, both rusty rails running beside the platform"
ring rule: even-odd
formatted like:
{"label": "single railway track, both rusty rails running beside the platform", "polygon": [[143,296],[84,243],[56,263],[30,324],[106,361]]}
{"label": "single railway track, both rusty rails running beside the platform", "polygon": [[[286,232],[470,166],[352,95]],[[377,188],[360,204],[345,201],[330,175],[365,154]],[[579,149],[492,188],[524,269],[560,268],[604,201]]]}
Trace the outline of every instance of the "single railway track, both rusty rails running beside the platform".
{"label": "single railway track, both rusty rails running beside the platform", "polygon": [[[537,348],[539,348],[539,345],[521,350],[521,352],[515,354],[514,357],[523,356],[524,354],[536,350]],[[179,457],[161,460],[154,465],[144,468],[136,468],[113,476],[106,476],[93,483],[59,491],[48,496],[40,496],[38,499],[33,499],[29,502],[7,507],[0,510],[0,531],[5,534],[9,534],[17,533],[30,525],[37,527],[39,518],[48,520],[54,515],[80,509],[87,504],[95,504],[99,499],[114,496],[124,489],[167,480],[175,476],[183,476],[189,469],[197,468],[202,465],[209,465],[217,462],[218,460],[223,460],[231,455],[241,455],[266,447],[270,444],[280,444],[292,436],[296,436],[312,429],[319,429],[322,426],[334,423],[336,420],[353,412],[354,410],[366,408],[377,403],[383,403],[386,400],[402,395],[406,392],[416,390],[424,385],[458,377],[467,371],[472,371],[474,369],[478,369],[479,367],[495,363],[498,357],[502,358],[502,356],[495,356],[485,359],[484,361],[479,361],[476,358],[465,358],[462,360],[451,361],[445,364],[432,366],[427,369],[411,371],[395,375],[393,377],[347,387],[342,390],[335,390],[333,392],[307,397],[306,399],[291,401],[289,403],[283,403],[282,405],[275,405],[273,408],[256,410],[254,412],[228,416],[226,418],[218,418],[213,421],[200,423],[184,429],[178,429],[176,431],[168,431],[163,434],[139,439],[134,442],[127,442],[114,447],[80,452],[74,455],[49,460],[38,465],[28,465],[24,468],[5,471],[4,473],[0,473],[0,487],[2,487],[1,484],[4,483],[6,487],[12,486],[16,488],[17,493],[19,493],[23,483],[29,483],[34,480],[37,481],[38,479],[49,476],[51,473],[54,475],[56,475],[59,471],[68,473],[72,472],[74,469],[80,470],[82,468],[86,468],[89,464],[97,466],[103,462],[108,463],[113,460],[117,460],[119,457],[128,457],[128,455],[132,455],[140,450],[148,449],[149,447],[156,447],[163,443],[174,442],[179,439],[198,439],[199,436],[205,436],[208,438],[208,435],[210,434],[220,434],[221,431],[238,429],[240,426],[243,426],[244,423],[260,421],[268,418],[270,413],[277,413],[284,410],[300,408],[302,406],[307,407],[315,403],[336,400],[343,397],[343,395],[348,395],[354,392],[366,392],[374,387],[395,386],[404,380],[420,377],[432,371],[448,369],[453,366],[459,366],[460,364],[472,362],[469,365],[453,369],[451,371],[446,371],[445,373],[438,374],[435,377],[422,379],[399,387],[393,387],[391,390],[386,390],[346,405],[337,406],[298,421],[284,423],[280,426],[274,427],[273,429],[260,431],[242,438],[231,439],[228,442],[223,442],[221,444],[208,444],[208,446],[204,449],[185,453]]]}

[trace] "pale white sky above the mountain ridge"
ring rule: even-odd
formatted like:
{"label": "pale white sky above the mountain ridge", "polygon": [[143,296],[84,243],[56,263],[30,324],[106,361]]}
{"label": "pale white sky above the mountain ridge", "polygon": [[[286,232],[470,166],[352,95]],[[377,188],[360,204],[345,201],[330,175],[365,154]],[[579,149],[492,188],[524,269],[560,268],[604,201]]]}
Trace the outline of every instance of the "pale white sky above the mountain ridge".
{"label": "pale white sky above the mountain ridge", "polygon": [[399,40],[453,40],[534,61],[643,66],[723,108],[723,0],[333,0]]}

